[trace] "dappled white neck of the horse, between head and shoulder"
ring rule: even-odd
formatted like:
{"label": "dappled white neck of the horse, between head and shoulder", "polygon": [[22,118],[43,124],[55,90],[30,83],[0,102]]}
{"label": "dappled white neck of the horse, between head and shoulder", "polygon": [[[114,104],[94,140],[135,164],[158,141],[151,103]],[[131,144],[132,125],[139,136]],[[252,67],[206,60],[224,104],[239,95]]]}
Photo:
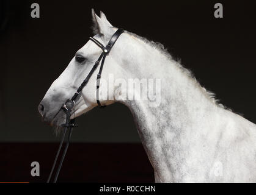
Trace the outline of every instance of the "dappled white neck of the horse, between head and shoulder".
{"label": "dappled white neck of the horse, between head and shoulder", "polygon": [[126,77],[161,79],[161,104],[151,107],[143,100],[122,103],[133,113],[145,151],[158,170],[165,166],[159,164],[163,162],[159,158],[172,159],[167,157],[175,154],[168,151],[177,151],[182,140],[189,144],[189,137],[207,133],[209,128],[204,126],[214,121],[219,107],[177,62],[150,46],[144,51],[143,57],[136,56],[139,60],[125,65],[126,69],[136,70],[126,71]]}

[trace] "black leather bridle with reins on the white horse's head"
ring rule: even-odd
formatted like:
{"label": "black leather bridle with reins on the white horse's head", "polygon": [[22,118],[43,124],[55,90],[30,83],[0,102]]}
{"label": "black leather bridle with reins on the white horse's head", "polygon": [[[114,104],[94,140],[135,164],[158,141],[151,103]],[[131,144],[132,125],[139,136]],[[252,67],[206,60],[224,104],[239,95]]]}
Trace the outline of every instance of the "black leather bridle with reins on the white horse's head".
{"label": "black leather bridle with reins on the white horse's head", "polygon": [[96,86],[96,93],[97,94],[96,94],[96,99],[97,99],[98,106],[100,106],[101,108],[106,107],[106,105],[101,105],[100,104],[100,100],[99,100],[99,88],[100,88],[101,73],[102,73],[102,69],[103,69],[103,65],[104,65],[104,60],[106,59],[106,56],[109,54],[109,52],[111,51],[112,47],[115,44],[115,41],[117,41],[117,39],[119,38],[119,36],[122,33],[123,33],[123,29],[118,29],[114,33],[114,35],[112,35],[111,39],[109,40],[108,44],[105,47],[103,46],[103,44],[100,43],[100,41],[96,40],[93,37],[90,37],[90,40],[93,41],[95,44],[97,44],[97,46],[102,49],[102,52],[100,54],[100,57],[98,58],[98,60],[93,65],[92,69],[90,70],[89,74],[87,75],[86,79],[84,79],[84,81],[81,83],[81,85],[78,88],[78,90],[76,90],[76,93],[73,95],[73,97],[71,99],[68,99],[65,102],[65,104],[63,105],[63,107],[61,108],[66,113],[65,124],[62,124],[62,127],[65,127],[65,129],[64,129],[64,132],[63,132],[63,135],[62,135],[62,140],[60,141],[59,149],[58,149],[56,157],[54,159],[53,166],[51,168],[51,172],[49,174],[47,183],[49,183],[49,181],[51,180],[51,176],[53,174],[53,170],[55,168],[55,165],[56,165],[56,162],[57,162],[57,158],[59,157],[59,153],[60,153],[60,150],[62,148],[62,144],[63,144],[63,142],[65,140],[65,135],[66,135],[66,132],[67,132],[67,129],[68,129],[69,130],[68,131],[68,138],[67,138],[67,142],[66,142],[66,145],[65,145],[65,149],[64,149],[64,152],[63,152],[62,157],[60,159],[59,167],[57,168],[57,171],[56,171],[56,174],[55,174],[55,177],[54,177],[54,180],[53,180],[54,183],[57,182],[57,178],[59,176],[60,168],[62,166],[62,163],[64,161],[65,155],[67,153],[68,145],[70,143],[71,133],[72,133],[73,127],[75,127],[75,119],[71,119],[70,120],[71,111],[75,107],[75,101],[78,98],[78,95],[81,93],[82,89],[87,85],[88,81],[90,80],[90,77],[94,73],[95,69],[97,69],[100,61],[101,61],[100,70],[98,71],[98,74],[97,74],[97,86]]}

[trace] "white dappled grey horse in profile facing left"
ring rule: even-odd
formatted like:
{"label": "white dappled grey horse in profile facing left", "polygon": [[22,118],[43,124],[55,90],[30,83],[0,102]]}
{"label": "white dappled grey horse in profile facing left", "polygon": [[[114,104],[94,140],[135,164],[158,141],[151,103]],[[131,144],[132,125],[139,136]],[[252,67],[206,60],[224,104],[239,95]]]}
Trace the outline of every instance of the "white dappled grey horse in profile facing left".
{"label": "white dappled grey horse in profile facing left", "polygon": [[[92,18],[94,38],[106,45],[117,28],[102,12],[99,17],[92,10]],[[40,102],[38,110],[46,122],[64,123],[60,108],[100,53],[92,41],[76,52]],[[76,101],[71,118],[97,106],[98,68]],[[101,78],[108,80],[111,75],[126,82],[130,78],[161,79],[161,103],[155,107],[150,100],[122,100],[122,93],[115,93],[122,85],[108,88],[113,99],[100,98],[101,104],[121,102],[130,108],[156,182],[256,182],[255,124],[218,104],[161,44],[125,31],[106,57]]]}

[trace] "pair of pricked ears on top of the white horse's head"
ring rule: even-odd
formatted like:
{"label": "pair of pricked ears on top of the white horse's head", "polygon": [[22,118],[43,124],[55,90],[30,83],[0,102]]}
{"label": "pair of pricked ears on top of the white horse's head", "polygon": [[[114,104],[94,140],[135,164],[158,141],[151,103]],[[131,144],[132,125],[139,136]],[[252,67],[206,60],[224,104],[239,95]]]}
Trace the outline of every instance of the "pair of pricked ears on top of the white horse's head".
{"label": "pair of pricked ears on top of the white horse's head", "polygon": [[[101,14],[102,15],[102,14]],[[104,15],[104,13],[103,13]],[[102,15],[102,16],[103,16]],[[92,9],[92,31],[93,34],[95,35],[106,35],[108,36],[109,34],[109,27],[112,27],[112,25],[109,23],[109,21],[107,19],[105,19],[106,16],[104,15],[103,18],[100,18],[99,16],[97,16],[94,12],[94,10]]]}

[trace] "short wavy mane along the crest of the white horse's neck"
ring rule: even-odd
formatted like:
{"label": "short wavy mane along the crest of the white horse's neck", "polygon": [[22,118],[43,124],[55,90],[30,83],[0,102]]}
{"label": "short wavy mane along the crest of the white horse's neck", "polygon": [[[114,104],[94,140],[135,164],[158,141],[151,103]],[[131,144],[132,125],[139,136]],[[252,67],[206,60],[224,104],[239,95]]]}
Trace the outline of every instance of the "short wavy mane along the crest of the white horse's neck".
{"label": "short wavy mane along the crest of the white horse's neck", "polygon": [[[152,40],[150,41],[145,37],[141,37],[139,35],[133,34],[132,32],[128,32],[126,30],[125,30],[125,32],[133,37],[138,38],[139,40],[143,41],[145,44],[150,45],[153,49],[158,50],[161,54],[163,54],[165,57],[167,57],[167,59],[169,59],[172,63],[174,63],[174,65],[178,69],[180,69],[180,71],[183,74],[186,74],[186,76],[188,76],[189,78],[191,78],[191,80],[194,81],[196,86],[202,90],[202,93],[205,94],[205,96],[207,96],[207,98],[210,99],[210,101],[213,102],[213,104],[217,105],[218,107],[224,108],[225,110],[229,110],[230,112],[233,112],[233,110],[231,108],[228,108],[225,105],[219,103],[220,100],[216,98],[215,93],[213,93],[210,90],[207,90],[205,87],[202,87],[202,85],[200,85],[200,82],[196,79],[196,77],[194,76],[192,71],[188,68],[185,68],[183,65],[181,65],[181,59],[178,58],[177,60],[175,60],[172,57],[172,55],[169,53],[168,49],[165,48],[162,43],[159,43],[157,41],[152,41]],[[238,114],[241,115],[241,113],[238,113]]]}

